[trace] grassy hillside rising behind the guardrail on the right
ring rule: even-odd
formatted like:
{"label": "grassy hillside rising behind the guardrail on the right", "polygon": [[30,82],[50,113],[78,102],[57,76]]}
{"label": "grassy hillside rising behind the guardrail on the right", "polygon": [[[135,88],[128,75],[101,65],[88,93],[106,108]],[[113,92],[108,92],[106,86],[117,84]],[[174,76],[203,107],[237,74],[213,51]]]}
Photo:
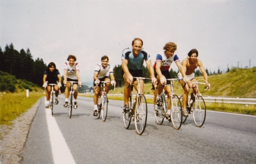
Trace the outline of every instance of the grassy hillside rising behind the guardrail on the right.
{"label": "grassy hillside rising behind the guardrail on the right", "polygon": [[[256,67],[233,68],[224,74],[208,76],[208,81],[211,83],[210,91],[204,91],[205,86],[201,86],[199,91],[204,96],[256,98],[255,75]],[[203,77],[198,76],[196,79],[203,79]],[[153,94],[151,88],[150,83],[145,84],[144,93]],[[183,89],[180,83],[174,82],[174,92],[182,95]],[[110,91],[110,94],[123,94],[123,88],[116,88]]]}

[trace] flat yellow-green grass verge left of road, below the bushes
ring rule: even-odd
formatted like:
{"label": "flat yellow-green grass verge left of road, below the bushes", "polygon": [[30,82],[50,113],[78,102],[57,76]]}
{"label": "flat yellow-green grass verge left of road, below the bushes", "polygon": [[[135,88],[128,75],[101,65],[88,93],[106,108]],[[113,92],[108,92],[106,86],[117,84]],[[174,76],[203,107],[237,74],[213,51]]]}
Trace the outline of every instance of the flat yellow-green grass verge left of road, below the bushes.
{"label": "flat yellow-green grass verge left of road, below the bushes", "polygon": [[43,97],[43,92],[26,92],[0,94],[0,124],[11,125],[21,113],[31,108],[39,98]]}

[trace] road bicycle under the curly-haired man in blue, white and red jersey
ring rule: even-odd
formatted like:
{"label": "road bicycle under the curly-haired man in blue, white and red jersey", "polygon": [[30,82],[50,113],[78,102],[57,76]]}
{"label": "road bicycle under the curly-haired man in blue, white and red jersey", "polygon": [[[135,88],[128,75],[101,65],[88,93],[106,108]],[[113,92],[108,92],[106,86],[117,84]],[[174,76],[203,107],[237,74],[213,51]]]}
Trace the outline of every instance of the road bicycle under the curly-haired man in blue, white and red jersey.
{"label": "road bicycle under the curly-haired man in blue, white and red jersey", "polygon": [[[173,128],[179,130],[182,126],[182,103],[180,102],[180,98],[174,94],[173,90],[173,81],[180,81],[183,79],[166,79],[167,81],[170,81],[171,86],[171,93],[170,93],[170,99],[167,105],[166,102],[166,96],[164,94],[164,89],[161,94],[160,99],[160,105],[157,109],[155,109],[154,115],[155,115],[155,121],[158,125],[163,124],[164,118],[167,118],[167,120],[171,120],[171,123],[173,124]],[[171,114],[168,114],[168,109],[171,110]]]}

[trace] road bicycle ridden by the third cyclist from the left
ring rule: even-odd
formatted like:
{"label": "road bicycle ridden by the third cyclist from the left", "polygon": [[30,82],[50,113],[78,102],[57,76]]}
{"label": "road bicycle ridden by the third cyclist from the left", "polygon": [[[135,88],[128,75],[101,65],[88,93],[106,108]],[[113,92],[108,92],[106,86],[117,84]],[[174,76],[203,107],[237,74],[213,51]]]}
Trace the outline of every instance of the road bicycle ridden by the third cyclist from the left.
{"label": "road bicycle ridden by the third cyclist from the left", "polygon": [[[110,83],[110,82],[105,82],[105,81],[101,81],[99,83],[99,88],[100,88],[100,96],[101,96],[101,102],[98,103],[98,117],[100,117],[101,112],[102,112],[102,121],[105,122],[105,120],[107,119],[107,114],[108,114],[108,95],[107,92],[105,92],[105,83]],[[98,84],[96,85],[96,87],[98,86]],[[115,85],[113,86],[113,90],[115,88]]]}

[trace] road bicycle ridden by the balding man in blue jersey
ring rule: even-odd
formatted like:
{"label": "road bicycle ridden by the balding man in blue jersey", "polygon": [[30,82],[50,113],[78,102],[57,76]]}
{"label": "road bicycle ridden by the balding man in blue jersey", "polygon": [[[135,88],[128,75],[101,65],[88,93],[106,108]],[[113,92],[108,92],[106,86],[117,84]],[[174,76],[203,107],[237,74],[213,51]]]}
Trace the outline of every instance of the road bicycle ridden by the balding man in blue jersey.
{"label": "road bicycle ridden by the balding man in blue jersey", "polygon": [[[136,133],[141,135],[146,127],[146,120],[148,117],[148,105],[146,104],[146,98],[143,92],[141,92],[141,82],[140,79],[145,80],[151,80],[149,78],[141,78],[141,77],[133,77],[136,78],[136,81],[138,83],[132,83],[131,85],[131,93],[129,96],[129,110],[123,111],[123,121],[124,121],[124,128],[128,129],[130,127],[130,122],[132,120],[132,117],[134,117],[135,121],[135,128]],[[133,86],[138,85],[138,91],[136,91],[136,98],[133,99]],[[130,86],[130,85],[129,85]],[[127,86],[127,88],[129,88]]]}

